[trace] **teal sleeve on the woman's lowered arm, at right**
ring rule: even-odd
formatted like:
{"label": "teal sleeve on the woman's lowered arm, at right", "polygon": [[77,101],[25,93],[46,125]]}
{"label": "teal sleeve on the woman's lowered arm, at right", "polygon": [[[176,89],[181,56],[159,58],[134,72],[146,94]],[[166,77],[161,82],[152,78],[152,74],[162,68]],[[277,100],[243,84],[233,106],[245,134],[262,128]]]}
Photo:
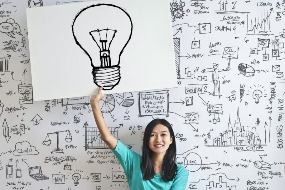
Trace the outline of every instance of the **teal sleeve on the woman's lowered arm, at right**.
{"label": "teal sleeve on the woman's lowered arm, at right", "polygon": [[188,181],[188,170],[185,167],[181,167],[177,171],[176,177],[171,185],[171,190],[185,190]]}

